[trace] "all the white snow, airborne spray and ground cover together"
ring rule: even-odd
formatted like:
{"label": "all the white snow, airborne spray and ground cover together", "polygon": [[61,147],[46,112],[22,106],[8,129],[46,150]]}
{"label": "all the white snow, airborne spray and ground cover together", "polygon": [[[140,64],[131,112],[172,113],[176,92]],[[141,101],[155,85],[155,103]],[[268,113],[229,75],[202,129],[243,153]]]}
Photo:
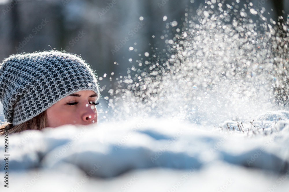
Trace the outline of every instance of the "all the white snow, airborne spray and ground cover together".
{"label": "all the white snow, airborne spray and ground cover together", "polygon": [[272,68],[287,57],[275,60],[273,28],[258,31],[255,9],[241,22],[222,7],[187,14],[164,40],[173,51],[120,76],[99,127],[10,135],[7,191],[288,191],[289,112],[275,110],[287,71]]}

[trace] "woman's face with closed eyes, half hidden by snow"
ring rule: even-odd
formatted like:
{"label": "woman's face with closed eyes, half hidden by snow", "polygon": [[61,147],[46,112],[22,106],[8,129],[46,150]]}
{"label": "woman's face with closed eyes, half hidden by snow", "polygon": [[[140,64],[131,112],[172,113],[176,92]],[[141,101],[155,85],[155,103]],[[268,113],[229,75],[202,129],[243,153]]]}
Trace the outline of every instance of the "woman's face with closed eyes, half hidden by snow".
{"label": "woman's face with closed eyes, half hidden by snow", "polygon": [[61,99],[46,110],[47,127],[97,123],[97,109],[92,104],[96,98],[94,91],[85,90]]}

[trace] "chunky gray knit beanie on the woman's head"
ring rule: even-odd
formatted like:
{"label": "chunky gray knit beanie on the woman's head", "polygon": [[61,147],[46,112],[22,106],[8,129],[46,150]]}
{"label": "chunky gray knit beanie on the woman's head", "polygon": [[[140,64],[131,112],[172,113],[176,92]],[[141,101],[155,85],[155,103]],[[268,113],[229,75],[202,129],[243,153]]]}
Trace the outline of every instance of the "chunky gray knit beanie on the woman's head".
{"label": "chunky gray knit beanie on the woman's head", "polygon": [[0,65],[0,101],[6,120],[13,125],[81,90],[92,90],[99,99],[96,75],[84,60],[69,53],[17,54]]}

